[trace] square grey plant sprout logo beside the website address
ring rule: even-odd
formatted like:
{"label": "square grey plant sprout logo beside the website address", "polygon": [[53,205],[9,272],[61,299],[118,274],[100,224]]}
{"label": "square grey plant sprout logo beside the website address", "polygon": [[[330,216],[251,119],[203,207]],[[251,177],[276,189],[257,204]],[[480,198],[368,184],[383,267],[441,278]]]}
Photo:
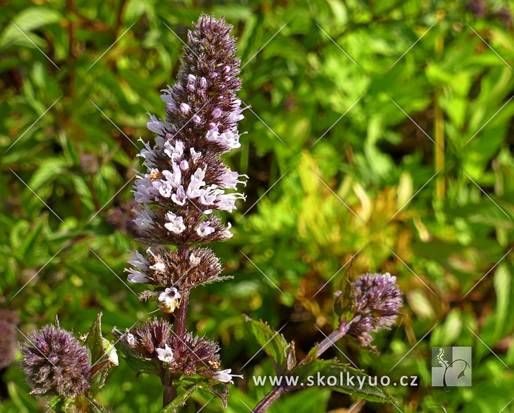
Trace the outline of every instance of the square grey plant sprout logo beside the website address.
{"label": "square grey plant sprout logo beside the website address", "polygon": [[432,347],[432,387],[471,385],[471,347]]}

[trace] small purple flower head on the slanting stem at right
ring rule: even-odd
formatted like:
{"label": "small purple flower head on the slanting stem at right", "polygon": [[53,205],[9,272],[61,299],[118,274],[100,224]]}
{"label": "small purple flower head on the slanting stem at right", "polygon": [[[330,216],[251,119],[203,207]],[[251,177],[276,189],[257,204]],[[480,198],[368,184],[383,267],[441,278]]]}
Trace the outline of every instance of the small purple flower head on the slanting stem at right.
{"label": "small purple flower head on the slanting stem at right", "polygon": [[372,341],[370,332],[389,328],[394,324],[403,299],[396,277],[385,274],[365,274],[355,280],[355,315],[348,323],[348,335],[362,346]]}

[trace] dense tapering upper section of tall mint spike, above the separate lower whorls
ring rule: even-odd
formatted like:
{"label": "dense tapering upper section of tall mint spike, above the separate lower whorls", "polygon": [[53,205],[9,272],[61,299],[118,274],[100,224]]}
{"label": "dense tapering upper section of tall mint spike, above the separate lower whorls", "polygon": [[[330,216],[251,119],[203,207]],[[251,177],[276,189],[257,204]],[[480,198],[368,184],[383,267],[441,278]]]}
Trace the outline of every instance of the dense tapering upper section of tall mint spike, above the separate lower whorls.
{"label": "dense tapering upper section of tall mint spike, above the separate lower whorls", "polygon": [[236,209],[245,183],[223,164],[222,153],[241,146],[237,123],[241,100],[239,60],[223,19],[203,16],[189,33],[178,81],[161,95],[166,120],[150,116],[155,145],[139,156],[147,172],[135,182],[135,200],[144,207],[136,224],[159,244],[192,244],[231,237],[212,211]]}

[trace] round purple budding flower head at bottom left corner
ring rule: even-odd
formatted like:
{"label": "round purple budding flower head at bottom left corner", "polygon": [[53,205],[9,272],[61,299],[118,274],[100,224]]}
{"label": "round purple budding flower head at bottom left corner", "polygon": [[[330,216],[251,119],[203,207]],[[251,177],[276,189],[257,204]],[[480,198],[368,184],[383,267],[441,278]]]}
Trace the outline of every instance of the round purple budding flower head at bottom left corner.
{"label": "round purple budding flower head at bottom left corner", "polygon": [[89,388],[89,350],[58,324],[34,332],[21,352],[20,366],[27,374],[31,394],[74,397]]}

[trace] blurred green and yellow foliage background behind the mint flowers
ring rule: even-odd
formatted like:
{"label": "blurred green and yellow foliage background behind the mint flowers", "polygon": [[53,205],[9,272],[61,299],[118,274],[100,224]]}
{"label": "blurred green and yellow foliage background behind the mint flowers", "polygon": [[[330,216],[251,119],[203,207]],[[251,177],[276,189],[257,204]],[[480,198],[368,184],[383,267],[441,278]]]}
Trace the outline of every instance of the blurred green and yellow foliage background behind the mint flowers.
{"label": "blurred green and yellow foliage background behind the mint flowers", "polygon": [[[84,333],[102,312],[113,339],[113,326],[155,309],[137,300],[142,286],[124,285],[128,250],[144,249],[131,222],[137,139],[153,139],[146,112],[164,118],[159,90],[207,12],[234,25],[251,106],[227,157],[249,176],[247,201],[226,217],[232,240],[212,246],[234,279],[194,290],[189,316],[220,342],[225,368],[244,366],[224,411],[247,412],[270,390],[251,379],[273,369],[243,313],[282,328],[301,359],[333,330],[333,293],[354,257],[353,277],[398,277],[405,316],[376,335],[381,357],[338,348],[368,374],[419,377],[388,388],[398,407],[354,413],[514,412],[512,6],[0,0],[0,308],[20,330],[3,334],[0,359],[56,315]],[[432,346],[471,346],[473,385],[432,388]],[[46,412],[29,391],[19,368],[3,368],[0,412]],[[121,361],[100,401],[154,413],[161,386]],[[269,412],[343,413],[356,401],[313,388]],[[223,411],[197,393],[183,412],[204,405]]]}

